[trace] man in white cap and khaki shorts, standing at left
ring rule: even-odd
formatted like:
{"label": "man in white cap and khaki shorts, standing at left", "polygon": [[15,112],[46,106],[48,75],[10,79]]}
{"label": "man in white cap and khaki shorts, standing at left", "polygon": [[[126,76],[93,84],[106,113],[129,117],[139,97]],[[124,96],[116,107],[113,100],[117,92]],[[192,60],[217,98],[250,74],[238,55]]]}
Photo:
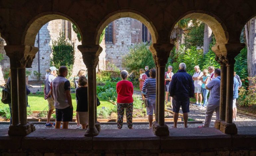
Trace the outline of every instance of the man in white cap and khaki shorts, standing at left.
{"label": "man in white cap and khaki shorts, standing at left", "polygon": [[55,123],[51,124],[51,122],[50,122],[50,118],[52,116],[53,110],[55,109],[54,100],[51,97],[50,91],[51,91],[51,83],[56,78],[55,75],[57,74],[57,70],[58,69],[54,66],[50,67],[50,73],[45,80],[44,94],[45,94],[45,100],[48,101],[48,106],[49,106],[49,111],[47,113],[47,122],[45,124],[46,128],[55,126]]}

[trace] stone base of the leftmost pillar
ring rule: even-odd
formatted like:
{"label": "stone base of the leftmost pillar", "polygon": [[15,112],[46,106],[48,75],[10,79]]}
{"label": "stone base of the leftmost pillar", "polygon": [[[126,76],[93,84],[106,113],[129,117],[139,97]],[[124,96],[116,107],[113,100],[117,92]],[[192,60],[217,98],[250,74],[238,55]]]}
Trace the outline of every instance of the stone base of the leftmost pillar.
{"label": "stone base of the leftmost pillar", "polygon": [[36,130],[36,127],[34,126],[33,123],[27,123],[25,125],[10,125],[9,126],[9,130],[8,130],[8,134],[10,136],[12,135],[20,135],[20,136],[25,136],[28,135],[29,133],[33,132]]}

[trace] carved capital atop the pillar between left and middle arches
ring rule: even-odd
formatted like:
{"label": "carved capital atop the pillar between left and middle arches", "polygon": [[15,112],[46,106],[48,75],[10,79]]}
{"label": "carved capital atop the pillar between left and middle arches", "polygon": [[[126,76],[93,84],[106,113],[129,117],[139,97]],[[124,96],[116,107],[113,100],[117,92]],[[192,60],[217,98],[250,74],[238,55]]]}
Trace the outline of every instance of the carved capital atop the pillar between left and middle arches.
{"label": "carved capital atop the pillar between left and middle arches", "polygon": [[77,48],[82,53],[83,62],[86,65],[86,68],[96,68],[102,47],[98,44],[89,44],[78,45]]}

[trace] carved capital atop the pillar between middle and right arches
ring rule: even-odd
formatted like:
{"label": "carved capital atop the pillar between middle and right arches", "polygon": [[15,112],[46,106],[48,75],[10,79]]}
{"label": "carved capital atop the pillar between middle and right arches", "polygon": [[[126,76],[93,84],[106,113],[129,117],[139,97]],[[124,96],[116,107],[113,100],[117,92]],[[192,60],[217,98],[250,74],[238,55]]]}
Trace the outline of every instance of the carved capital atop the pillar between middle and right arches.
{"label": "carved capital atop the pillar between middle and right arches", "polygon": [[149,50],[153,54],[153,58],[156,66],[165,66],[170,52],[173,49],[174,44],[171,43],[153,43],[149,47]]}

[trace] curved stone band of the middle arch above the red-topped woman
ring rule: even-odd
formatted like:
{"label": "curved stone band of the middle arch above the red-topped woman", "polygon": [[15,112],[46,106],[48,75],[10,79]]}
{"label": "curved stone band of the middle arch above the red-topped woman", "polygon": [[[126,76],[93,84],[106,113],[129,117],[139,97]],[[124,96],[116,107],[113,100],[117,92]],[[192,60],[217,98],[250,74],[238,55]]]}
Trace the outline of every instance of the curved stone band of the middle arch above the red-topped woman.
{"label": "curved stone band of the middle arch above the red-topped woman", "polygon": [[153,22],[146,17],[143,13],[135,11],[135,10],[118,10],[115,12],[112,12],[110,14],[108,14],[107,16],[105,16],[104,19],[101,20],[101,22],[98,24],[97,28],[96,28],[96,44],[99,44],[99,39],[100,39],[100,35],[102,33],[102,31],[104,30],[104,28],[112,21],[117,20],[119,18],[124,18],[124,17],[129,17],[129,18],[133,18],[136,19],[138,21],[140,21],[141,23],[143,23],[149,30],[151,37],[152,37],[152,43],[155,43],[157,38],[158,38],[158,33],[157,33],[157,29],[155,28]]}

